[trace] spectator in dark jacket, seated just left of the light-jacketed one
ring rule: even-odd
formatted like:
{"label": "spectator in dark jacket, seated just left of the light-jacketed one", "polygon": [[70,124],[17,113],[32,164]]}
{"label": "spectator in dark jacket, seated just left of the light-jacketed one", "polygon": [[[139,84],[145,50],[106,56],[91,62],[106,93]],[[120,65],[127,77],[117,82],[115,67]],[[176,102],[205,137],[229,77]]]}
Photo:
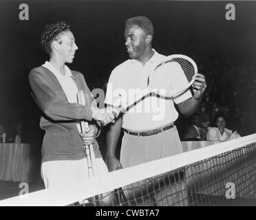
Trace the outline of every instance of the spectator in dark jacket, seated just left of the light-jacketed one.
{"label": "spectator in dark jacket, seated just left of the light-jacketed one", "polygon": [[183,140],[205,140],[204,136],[206,135],[204,134],[204,131],[202,131],[202,129],[200,128],[200,116],[197,113],[192,115],[191,122],[191,126],[188,126],[184,131]]}

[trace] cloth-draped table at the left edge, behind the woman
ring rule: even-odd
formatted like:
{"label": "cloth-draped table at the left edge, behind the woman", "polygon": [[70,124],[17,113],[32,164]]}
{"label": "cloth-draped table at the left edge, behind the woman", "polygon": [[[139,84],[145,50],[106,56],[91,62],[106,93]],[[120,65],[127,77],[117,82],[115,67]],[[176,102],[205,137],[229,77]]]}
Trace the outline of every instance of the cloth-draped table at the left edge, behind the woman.
{"label": "cloth-draped table at the left edge, behind the woman", "polygon": [[0,144],[0,180],[30,182],[32,167],[30,144]]}

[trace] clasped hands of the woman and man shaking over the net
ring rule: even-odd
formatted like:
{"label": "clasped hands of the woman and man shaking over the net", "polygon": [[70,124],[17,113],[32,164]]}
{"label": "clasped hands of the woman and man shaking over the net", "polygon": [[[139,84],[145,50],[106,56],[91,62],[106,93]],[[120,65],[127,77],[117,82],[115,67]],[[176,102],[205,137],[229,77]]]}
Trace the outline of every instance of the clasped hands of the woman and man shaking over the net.
{"label": "clasped hands of the woman and man shaking over the net", "polygon": [[107,107],[105,109],[94,109],[92,111],[92,118],[103,126],[106,126],[109,123],[114,123],[115,118],[118,118],[120,111],[118,109]]}

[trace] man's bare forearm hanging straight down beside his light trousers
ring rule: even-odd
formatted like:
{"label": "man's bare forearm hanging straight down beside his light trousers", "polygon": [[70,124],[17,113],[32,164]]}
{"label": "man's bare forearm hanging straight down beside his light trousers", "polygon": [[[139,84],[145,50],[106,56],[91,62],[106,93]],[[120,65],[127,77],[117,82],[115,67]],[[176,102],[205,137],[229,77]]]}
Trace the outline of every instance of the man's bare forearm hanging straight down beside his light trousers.
{"label": "man's bare forearm hanging straight down beside his light trousers", "polygon": [[107,131],[107,157],[115,157],[116,145],[122,129],[122,115],[116,119],[114,124],[109,124]]}

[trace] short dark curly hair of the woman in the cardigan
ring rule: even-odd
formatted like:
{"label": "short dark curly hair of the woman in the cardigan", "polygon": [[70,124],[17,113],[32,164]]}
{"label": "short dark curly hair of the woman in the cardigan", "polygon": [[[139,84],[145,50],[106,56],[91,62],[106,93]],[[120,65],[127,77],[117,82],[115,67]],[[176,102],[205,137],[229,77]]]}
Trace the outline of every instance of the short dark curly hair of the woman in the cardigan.
{"label": "short dark curly hair of the woman in the cardigan", "polygon": [[41,34],[41,45],[47,54],[52,52],[51,43],[57,41],[62,32],[71,31],[71,26],[65,21],[57,21],[45,26]]}

